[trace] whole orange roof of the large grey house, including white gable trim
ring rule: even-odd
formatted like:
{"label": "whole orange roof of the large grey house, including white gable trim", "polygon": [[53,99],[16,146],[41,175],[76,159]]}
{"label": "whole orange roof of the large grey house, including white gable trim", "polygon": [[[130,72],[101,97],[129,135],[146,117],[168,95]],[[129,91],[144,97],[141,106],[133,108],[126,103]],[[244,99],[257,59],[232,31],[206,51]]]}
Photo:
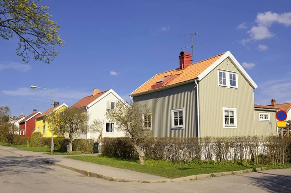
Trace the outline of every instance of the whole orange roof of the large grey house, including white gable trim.
{"label": "whole orange roof of the large grey house, including white gable trim", "polygon": [[242,73],[242,76],[246,78],[246,80],[250,83],[250,85],[253,88],[257,88],[258,86],[256,83],[248,76],[248,74],[245,72],[245,70],[242,68],[241,64],[238,63],[238,61],[234,58],[234,56],[230,53],[230,51],[227,51],[225,53],[213,56],[211,58],[208,58],[206,60],[202,60],[200,62],[196,62],[194,64],[190,64],[188,67],[184,69],[173,69],[170,71],[162,72],[160,74],[156,74],[153,78],[146,81],[142,86],[137,88],[135,91],[133,91],[130,95],[137,95],[140,93],[144,93],[146,91],[151,90],[151,86],[155,84],[157,81],[161,80],[165,76],[169,75],[176,75],[175,78],[168,81],[166,84],[162,85],[162,87],[167,87],[170,85],[175,85],[178,83],[186,82],[188,80],[194,80],[194,79],[203,79],[208,73],[210,73],[217,65],[219,65],[223,60],[226,58],[229,58],[233,64],[235,64],[238,67],[238,70]]}

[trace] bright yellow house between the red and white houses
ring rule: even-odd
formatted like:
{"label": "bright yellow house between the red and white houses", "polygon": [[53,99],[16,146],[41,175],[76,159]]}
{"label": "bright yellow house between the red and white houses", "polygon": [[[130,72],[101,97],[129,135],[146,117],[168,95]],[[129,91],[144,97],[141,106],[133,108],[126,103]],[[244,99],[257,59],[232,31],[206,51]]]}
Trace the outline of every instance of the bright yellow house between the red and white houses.
{"label": "bright yellow house between the red and white houses", "polygon": [[[54,107],[53,111],[54,112],[59,112],[59,111],[63,111],[66,108],[68,108],[68,106],[63,103],[61,105],[57,105]],[[52,108],[49,108],[47,111],[45,111],[42,114],[39,114],[35,117],[35,129],[32,131],[33,132],[41,132],[43,134],[43,137],[51,137],[51,131],[50,131],[50,127],[48,126],[48,124],[46,124],[46,115],[50,114],[52,112]],[[56,137],[56,135],[53,135],[54,137]]]}

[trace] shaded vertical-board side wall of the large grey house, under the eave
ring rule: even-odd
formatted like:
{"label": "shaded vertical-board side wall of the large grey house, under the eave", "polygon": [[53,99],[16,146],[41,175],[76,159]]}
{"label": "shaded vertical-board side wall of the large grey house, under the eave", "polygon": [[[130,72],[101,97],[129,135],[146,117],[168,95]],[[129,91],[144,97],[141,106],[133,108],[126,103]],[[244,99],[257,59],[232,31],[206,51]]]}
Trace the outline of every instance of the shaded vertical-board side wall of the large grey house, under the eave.
{"label": "shaded vertical-board side wall of the large grey house, under the eave", "polygon": [[[138,105],[146,105],[152,113],[153,137],[196,136],[196,87],[194,83],[134,96]],[[185,108],[185,129],[171,129],[171,110]]]}

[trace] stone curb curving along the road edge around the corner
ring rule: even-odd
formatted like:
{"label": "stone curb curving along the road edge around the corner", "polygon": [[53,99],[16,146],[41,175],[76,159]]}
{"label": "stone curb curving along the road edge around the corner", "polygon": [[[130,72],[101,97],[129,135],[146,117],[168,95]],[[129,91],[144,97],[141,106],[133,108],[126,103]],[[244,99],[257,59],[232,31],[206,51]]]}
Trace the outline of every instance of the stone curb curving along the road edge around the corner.
{"label": "stone curb curving along the road edge around the corner", "polygon": [[237,175],[237,174],[245,174],[245,173],[251,173],[251,172],[257,172],[262,170],[268,170],[267,167],[262,168],[255,168],[255,169],[246,169],[246,170],[239,170],[239,171],[232,171],[232,172],[219,172],[219,173],[212,173],[212,174],[199,174],[194,176],[187,176],[187,177],[178,177],[174,179],[164,179],[164,180],[141,180],[141,179],[127,179],[127,178],[118,178],[118,177],[110,177],[105,176],[102,174],[93,173],[90,171],[80,170],[73,167],[68,167],[59,163],[55,163],[52,161],[42,160],[45,163],[49,163],[51,165],[56,165],[74,172],[78,172],[84,176],[87,177],[97,177],[100,179],[105,179],[108,181],[116,181],[116,182],[139,182],[139,183],[163,183],[163,182],[180,182],[180,181],[189,181],[189,180],[197,180],[197,179],[203,179],[203,178],[210,178],[210,177],[221,177],[221,176],[228,176],[228,175]]}

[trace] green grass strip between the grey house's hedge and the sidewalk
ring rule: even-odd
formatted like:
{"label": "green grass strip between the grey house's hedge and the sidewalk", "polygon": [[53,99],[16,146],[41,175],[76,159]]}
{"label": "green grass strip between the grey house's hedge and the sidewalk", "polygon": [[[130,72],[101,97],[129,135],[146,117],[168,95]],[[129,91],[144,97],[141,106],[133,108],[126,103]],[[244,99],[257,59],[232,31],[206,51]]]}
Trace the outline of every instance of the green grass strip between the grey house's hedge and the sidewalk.
{"label": "green grass strip between the grey house's hedge and the sidewalk", "polygon": [[[141,165],[139,161],[128,161],[107,156],[75,156],[67,158],[79,161],[93,162],[97,164],[108,165],[168,178],[186,177],[197,174],[212,174],[217,172],[238,171],[249,168],[262,167],[258,165],[243,165],[233,162],[218,163],[215,161],[193,161],[191,163],[173,163],[171,161],[155,160],[146,160],[146,165]],[[264,167],[274,168],[275,166]],[[281,166],[281,168],[286,167],[291,167],[291,164]],[[275,168],[278,168],[278,166],[276,166]]]}

